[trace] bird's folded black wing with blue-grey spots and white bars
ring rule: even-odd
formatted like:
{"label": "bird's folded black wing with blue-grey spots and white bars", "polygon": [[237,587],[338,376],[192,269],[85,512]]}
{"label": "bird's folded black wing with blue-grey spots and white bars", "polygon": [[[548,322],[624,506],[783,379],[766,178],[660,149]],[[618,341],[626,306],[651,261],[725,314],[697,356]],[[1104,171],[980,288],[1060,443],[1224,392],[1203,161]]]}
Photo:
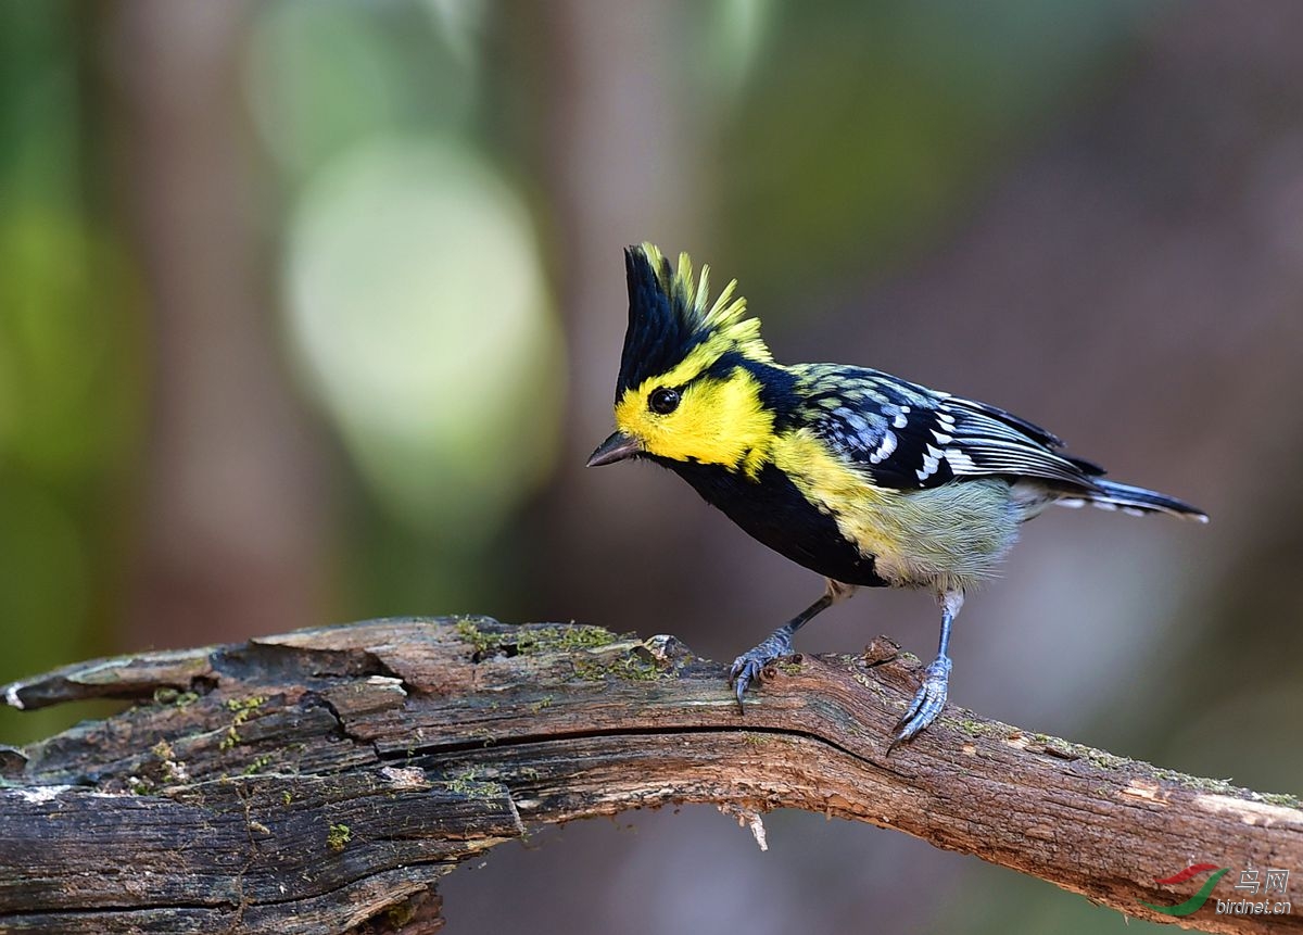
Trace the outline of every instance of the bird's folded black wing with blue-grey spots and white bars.
{"label": "bird's folded black wing with blue-grey spots and white bars", "polygon": [[800,369],[801,421],[880,487],[956,477],[1032,477],[1091,488],[1104,471],[1011,413],[860,367]]}

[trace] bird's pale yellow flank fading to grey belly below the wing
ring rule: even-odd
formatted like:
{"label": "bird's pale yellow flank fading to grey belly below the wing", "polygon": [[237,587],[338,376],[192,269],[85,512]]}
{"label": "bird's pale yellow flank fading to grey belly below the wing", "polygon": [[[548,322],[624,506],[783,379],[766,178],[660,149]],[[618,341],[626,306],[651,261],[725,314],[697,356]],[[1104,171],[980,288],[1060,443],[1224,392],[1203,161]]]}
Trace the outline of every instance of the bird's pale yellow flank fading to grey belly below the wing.
{"label": "bird's pale yellow flank fading to grey belly below the wing", "polygon": [[990,576],[1018,537],[1019,517],[1002,479],[885,490],[808,428],[778,435],[773,457],[894,585],[972,587]]}

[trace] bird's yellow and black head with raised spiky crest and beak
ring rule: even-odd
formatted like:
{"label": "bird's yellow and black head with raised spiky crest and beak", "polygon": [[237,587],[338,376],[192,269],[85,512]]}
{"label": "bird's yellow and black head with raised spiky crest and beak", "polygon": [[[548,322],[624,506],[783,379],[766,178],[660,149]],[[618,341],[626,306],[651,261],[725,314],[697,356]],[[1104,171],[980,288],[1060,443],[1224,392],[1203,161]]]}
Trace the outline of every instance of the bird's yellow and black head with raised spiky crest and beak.
{"label": "bird's yellow and black head with raised spiky crest and beak", "polygon": [[774,358],[747,318],[736,280],[711,303],[710,270],[674,271],[650,245],[628,247],[629,327],[615,385],[616,431],[589,466],[628,457],[698,462],[754,474],[767,460],[774,410],[764,375]]}

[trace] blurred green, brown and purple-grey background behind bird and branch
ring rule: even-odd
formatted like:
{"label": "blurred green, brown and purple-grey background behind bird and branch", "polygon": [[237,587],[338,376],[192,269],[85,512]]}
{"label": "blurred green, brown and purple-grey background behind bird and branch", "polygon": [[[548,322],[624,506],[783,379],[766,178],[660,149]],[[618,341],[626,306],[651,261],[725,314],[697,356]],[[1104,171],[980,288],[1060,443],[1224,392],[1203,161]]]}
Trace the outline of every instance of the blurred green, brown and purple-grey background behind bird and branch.
{"label": "blurred green, brown and purple-grey background behind bird and branch", "polygon": [[[1299,35],[1290,0],[4,0],[0,681],[391,613],[753,645],[817,578],[667,473],[581,466],[650,238],[737,276],[779,359],[990,400],[1207,508],[1033,523],[951,697],[1298,793]],[[800,647],[936,630],[861,591]],[[767,826],[765,854],[709,809],[541,833],[446,912],[1145,928],[896,832]]]}

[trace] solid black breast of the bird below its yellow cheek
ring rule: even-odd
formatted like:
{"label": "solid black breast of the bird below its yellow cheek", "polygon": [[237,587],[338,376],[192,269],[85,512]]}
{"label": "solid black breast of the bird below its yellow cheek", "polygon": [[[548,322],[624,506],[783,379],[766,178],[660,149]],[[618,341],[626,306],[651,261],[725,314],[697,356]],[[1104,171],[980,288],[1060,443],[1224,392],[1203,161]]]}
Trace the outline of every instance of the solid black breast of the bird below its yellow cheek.
{"label": "solid black breast of the bird below its yellow cheek", "polygon": [[837,522],[801,496],[774,465],[752,481],[715,465],[653,458],[691,483],[713,507],[779,555],[848,585],[886,585],[873,570],[873,556],[860,555]]}

